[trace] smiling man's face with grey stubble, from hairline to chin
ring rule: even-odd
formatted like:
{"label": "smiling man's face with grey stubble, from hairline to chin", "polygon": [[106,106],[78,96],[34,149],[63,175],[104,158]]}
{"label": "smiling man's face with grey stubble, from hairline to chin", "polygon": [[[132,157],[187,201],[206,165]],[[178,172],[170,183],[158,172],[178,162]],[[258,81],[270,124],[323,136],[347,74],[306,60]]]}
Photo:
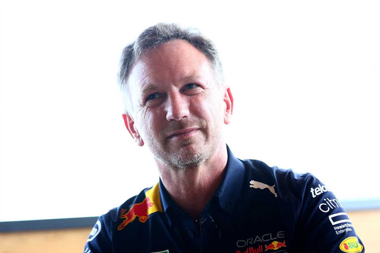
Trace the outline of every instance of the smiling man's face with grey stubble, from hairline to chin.
{"label": "smiling man's face with grey stubble, from hairline to chin", "polygon": [[206,56],[187,41],[148,51],[133,65],[127,85],[133,108],[127,128],[161,163],[194,167],[222,143],[230,93],[215,81]]}

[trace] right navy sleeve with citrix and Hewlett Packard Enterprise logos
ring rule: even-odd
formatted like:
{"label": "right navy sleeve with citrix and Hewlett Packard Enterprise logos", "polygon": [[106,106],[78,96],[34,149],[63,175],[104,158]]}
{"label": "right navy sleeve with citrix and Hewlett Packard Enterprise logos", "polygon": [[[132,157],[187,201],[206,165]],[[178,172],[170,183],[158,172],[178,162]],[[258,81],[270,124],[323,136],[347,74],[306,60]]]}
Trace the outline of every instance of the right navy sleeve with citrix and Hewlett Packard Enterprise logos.
{"label": "right navy sleeve with citrix and Hewlett Packard Enterprise logos", "polygon": [[364,253],[350,218],[326,185],[304,174],[297,192],[301,193],[301,203],[294,236],[300,252]]}

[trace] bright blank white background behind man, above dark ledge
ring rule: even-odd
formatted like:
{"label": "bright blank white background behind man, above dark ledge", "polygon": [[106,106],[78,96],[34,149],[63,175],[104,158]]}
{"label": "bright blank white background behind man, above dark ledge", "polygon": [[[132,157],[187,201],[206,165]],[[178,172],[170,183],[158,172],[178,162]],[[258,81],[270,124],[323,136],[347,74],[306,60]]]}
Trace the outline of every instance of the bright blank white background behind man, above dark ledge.
{"label": "bright blank white background behind man, above dark ledge", "polygon": [[217,45],[236,157],[379,199],[378,17],[367,1],[2,2],[0,221],[98,216],[158,181],[116,84],[121,50],[157,22]]}

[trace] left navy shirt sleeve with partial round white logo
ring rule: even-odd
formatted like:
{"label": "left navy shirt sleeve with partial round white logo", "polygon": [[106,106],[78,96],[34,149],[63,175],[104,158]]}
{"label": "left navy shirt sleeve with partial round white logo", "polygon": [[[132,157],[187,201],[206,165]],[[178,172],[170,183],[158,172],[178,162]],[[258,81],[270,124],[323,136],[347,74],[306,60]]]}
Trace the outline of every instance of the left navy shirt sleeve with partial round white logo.
{"label": "left navy shirt sleeve with partial round white logo", "polygon": [[102,215],[93,226],[90,236],[84,246],[84,253],[112,253],[109,228],[106,226],[107,216]]}

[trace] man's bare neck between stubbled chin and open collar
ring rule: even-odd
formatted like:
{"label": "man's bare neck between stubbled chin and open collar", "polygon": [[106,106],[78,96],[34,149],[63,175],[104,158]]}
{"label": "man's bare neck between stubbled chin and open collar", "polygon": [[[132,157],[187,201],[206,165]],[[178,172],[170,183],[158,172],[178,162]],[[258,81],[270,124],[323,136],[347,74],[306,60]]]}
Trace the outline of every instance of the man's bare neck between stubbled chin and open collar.
{"label": "man's bare neck between stubbled chin and open collar", "polygon": [[157,164],[161,181],[173,201],[189,217],[197,219],[222,182],[227,164],[226,144],[220,143],[214,155],[196,168],[177,169]]}

